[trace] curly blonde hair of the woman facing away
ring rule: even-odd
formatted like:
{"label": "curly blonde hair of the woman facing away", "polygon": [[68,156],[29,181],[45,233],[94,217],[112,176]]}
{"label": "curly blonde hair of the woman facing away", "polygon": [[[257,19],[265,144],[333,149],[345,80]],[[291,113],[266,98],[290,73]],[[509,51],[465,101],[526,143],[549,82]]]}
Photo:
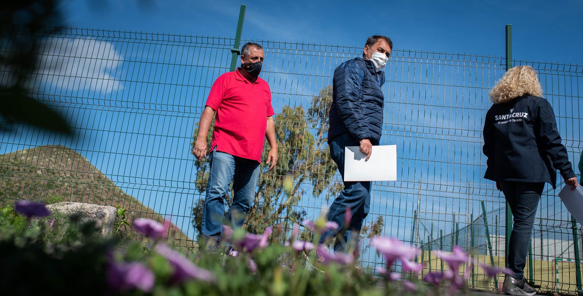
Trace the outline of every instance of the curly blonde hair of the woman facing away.
{"label": "curly blonde hair of the woman facing away", "polygon": [[525,94],[540,97],[543,95],[543,90],[531,66],[515,66],[508,70],[492,88],[490,98],[494,104],[500,104]]}

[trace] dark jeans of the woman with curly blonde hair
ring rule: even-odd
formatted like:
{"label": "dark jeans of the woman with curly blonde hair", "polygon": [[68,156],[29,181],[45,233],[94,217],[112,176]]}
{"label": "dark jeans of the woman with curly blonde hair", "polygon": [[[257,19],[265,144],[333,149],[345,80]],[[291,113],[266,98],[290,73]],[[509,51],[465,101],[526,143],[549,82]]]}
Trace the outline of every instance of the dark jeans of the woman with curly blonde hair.
{"label": "dark jeans of the woman with curly blonde hair", "polygon": [[514,216],[514,227],[508,246],[508,268],[517,279],[524,276],[528,245],[532,237],[532,225],[535,222],[536,209],[539,206],[545,183],[500,182],[502,192]]}

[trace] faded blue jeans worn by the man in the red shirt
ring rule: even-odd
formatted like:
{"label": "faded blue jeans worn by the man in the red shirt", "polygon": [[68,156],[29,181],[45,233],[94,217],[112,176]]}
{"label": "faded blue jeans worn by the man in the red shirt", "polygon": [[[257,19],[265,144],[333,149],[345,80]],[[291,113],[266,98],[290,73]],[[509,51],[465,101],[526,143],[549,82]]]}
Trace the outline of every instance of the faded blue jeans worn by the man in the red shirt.
{"label": "faded blue jeans worn by the man in the red shirt", "polygon": [[[202,213],[202,235],[220,242],[223,219],[231,227],[240,228],[255,199],[259,179],[259,162],[229,153],[216,151],[210,154],[210,173],[206,187],[205,209]],[[233,203],[225,217],[224,198],[233,181]]]}

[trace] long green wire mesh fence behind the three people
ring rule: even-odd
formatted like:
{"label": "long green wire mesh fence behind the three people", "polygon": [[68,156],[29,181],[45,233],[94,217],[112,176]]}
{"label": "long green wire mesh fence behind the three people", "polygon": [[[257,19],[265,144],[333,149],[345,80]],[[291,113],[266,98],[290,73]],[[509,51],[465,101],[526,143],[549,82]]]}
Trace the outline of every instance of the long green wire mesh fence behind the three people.
{"label": "long green wire mesh fence behind the three people", "polygon": [[[272,91],[280,161],[273,171],[262,163],[246,227],[261,232],[279,225],[272,239],[282,241],[293,223],[317,219],[342,190],[327,144],[332,76],[336,66],[359,57],[362,49],[254,42],[265,50],[261,77]],[[75,135],[19,124],[2,133],[0,205],[32,199],[121,206],[132,212],[130,219],[171,221],[174,243],[195,248],[208,162],[190,154],[192,135],[214,80],[229,71],[233,43],[90,29],[47,34],[27,88],[62,112]],[[0,49],[5,54],[17,50],[7,44]],[[539,72],[564,144],[571,159],[578,159],[582,67],[514,64]],[[0,82],[8,83],[10,72],[0,70]],[[454,245],[482,262],[504,265],[504,197],[482,178],[487,94],[504,72],[500,57],[392,52],[382,87],[381,145],[397,145],[399,181],[373,183],[361,232],[363,266],[384,265],[368,248],[368,238],[379,234],[422,248],[417,259],[426,263],[423,273],[444,269],[431,251],[451,251]],[[264,160],[268,150],[266,145]],[[543,290],[572,293],[573,224],[556,193],[547,191],[539,207],[526,277]],[[494,287],[479,267],[470,269],[470,284]]]}

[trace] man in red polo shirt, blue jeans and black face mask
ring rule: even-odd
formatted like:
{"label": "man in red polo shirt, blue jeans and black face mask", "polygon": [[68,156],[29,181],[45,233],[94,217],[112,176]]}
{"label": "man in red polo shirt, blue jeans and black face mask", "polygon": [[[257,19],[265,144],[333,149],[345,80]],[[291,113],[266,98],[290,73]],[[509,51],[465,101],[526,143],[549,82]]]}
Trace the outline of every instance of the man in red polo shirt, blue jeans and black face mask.
{"label": "man in red polo shirt, blue jeans and black face mask", "polygon": [[[271,146],[269,170],[278,161],[278,144],[271,106],[271,90],[258,77],[264,59],[261,45],[247,43],[241,49],[241,68],[221,75],[212,88],[202,111],[198,137],[192,154],[206,157],[210,122],[216,112],[210,145],[210,174],[202,214],[202,235],[209,248],[220,246],[223,218],[241,227],[255,199],[259,164],[265,138]],[[233,203],[225,217],[224,197],[233,182]]]}

